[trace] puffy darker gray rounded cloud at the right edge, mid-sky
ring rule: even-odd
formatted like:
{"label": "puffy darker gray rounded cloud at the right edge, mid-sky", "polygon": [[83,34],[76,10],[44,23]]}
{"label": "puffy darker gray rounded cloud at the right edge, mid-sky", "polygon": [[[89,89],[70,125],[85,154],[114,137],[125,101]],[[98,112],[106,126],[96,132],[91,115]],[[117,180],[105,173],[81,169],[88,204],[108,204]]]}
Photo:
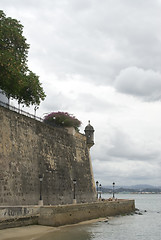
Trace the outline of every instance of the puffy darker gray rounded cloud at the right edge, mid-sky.
{"label": "puffy darker gray rounded cloud at the right edge, mid-sky", "polygon": [[115,87],[122,93],[143,97],[145,100],[158,100],[161,98],[161,73],[129,67],[117,76]]}

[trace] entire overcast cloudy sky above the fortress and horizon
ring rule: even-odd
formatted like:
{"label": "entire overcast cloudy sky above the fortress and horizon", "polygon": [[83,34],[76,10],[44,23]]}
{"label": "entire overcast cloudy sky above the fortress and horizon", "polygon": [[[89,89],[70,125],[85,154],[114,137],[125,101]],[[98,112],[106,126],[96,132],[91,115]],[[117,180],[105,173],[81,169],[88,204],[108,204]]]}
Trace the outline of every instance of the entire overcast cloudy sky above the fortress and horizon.
{"label": "entire overcast cloudy sky above the fortress and horizon", "polygon": [[[1,0],[47,95],[37,115],[91,120],[95,181],[161,185],[161,0]],[[30,111],[33,111],[31,108]]]}

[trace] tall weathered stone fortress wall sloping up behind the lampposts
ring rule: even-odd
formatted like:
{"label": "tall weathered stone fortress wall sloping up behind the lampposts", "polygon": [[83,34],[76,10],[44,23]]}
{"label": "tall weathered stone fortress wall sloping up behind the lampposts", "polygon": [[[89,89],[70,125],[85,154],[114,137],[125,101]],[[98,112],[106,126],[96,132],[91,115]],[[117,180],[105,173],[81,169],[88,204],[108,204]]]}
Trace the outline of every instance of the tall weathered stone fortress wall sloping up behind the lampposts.
{"label": "tall weathered stone fortress wall sloping up behind the lampposts", "polygon": [[47,126],[0,107],[0,205],[36,205],[43,174],[45,205],[95,201],[89,150],[82,134]]}

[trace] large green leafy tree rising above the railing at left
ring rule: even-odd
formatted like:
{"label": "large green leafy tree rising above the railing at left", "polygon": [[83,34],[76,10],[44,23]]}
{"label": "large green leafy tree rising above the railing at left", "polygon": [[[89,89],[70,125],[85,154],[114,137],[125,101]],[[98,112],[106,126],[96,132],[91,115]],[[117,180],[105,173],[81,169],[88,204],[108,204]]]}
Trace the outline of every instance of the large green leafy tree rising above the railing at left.
{"label": "large green leafy tree rising above the railing at left", "polygon": [[22,34],[20,22],[0,10],[0,88],[19,103],[39,105],[45,93],[27,66],[29,44]]}

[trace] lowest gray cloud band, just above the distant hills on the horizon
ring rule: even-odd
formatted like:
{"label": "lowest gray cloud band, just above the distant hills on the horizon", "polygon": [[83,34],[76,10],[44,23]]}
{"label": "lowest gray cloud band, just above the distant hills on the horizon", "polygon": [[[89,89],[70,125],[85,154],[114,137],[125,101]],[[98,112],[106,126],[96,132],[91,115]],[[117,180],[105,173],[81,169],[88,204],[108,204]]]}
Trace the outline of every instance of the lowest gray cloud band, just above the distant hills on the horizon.
{"label": "lowest gray cloud band, just above the distant hills on the horizon", "polygon": [[95,160],[93,166],[95,179],[101,181],[104,186],[112,185],[112,182],[117,186],[141,183],[159,185],[161,180],[161,168],[151,163],[135,161],[118,163],[113,160],[112,164]]}

